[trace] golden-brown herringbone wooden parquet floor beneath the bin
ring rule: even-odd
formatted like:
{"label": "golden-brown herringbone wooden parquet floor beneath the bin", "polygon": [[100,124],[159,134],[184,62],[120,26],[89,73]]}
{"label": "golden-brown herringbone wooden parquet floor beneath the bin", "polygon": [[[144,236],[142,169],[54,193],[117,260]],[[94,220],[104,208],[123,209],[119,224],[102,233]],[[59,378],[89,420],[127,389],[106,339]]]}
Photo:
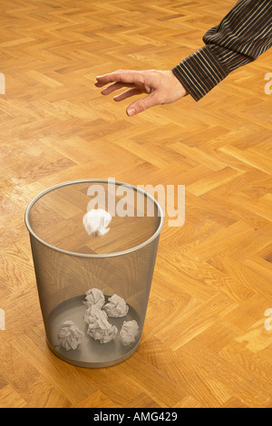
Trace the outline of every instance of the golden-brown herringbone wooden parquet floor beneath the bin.
{"label": "golden-brown herringbone wooden parquet floor beneath the bin", "polygon": [[[271,52],[200,102],[133,118],[94,86],[172,68],[232,5],[0,0],[1,407],[272,406]],[[24,210],[57,183],[109,177],[185,185],[186,219],[162,230],[137,352],[84,369],[45,343]]]}

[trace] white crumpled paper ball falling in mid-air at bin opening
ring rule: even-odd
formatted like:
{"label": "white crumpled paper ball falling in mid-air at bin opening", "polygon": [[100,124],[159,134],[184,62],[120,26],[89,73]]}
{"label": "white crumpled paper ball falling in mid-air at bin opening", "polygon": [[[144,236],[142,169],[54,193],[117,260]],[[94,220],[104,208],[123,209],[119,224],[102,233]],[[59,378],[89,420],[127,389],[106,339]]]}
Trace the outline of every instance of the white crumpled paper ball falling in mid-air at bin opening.
{"label": "white crumpled paper ball falling in mid-air at bin opening", "polygon": [[103,208],[92,208],[83,217],[83,225],[88,235],[102,236],[109,232],[107,228],[112,220],[112,215]]}

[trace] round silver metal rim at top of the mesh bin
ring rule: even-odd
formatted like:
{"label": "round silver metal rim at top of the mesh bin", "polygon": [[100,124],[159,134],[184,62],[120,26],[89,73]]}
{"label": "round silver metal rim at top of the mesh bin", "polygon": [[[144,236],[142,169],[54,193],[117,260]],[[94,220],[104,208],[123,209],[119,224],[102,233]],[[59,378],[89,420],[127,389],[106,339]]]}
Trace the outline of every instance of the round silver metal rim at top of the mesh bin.
{"label": "round silver metal rim at top of the mesh bin", "polygon": [[[73,185],[73,184],[77,184],[77,183],[85,183],[85,182],[108,183],[108,184],[110,183],[110,184],[114,184],[114,185],[122,185],[122,186],[125,186],[127,188],[134,189],[136,191],[141,192],[141,194],[143,194],[147,198],[150,198],[151,201],[153,201],[154,204],[157,206],[158,212],[159,212],[158,218],[160,218],[160,225],[159,225],[159,227],[157,228],[157,230],[154,232],[154,234],[150,238],[148,238],[146,241],[144,241],[143,243],[141,243],[138,246],[131,247],[131,248],[128,248],[126,250],[122,250],[122,251],[118,251],[118,252],[102,253],[102,254],[96,254],[96,255],[90,254],[90,253],[76,253],[76,252],[73,252],[73,251],[63,250],[63,248],[52,246],[51,244],[49,244],[46,241],[44,241],[41,237],[38,237],[37,234],[35,234],[33,228],[31,227],[30,220],[29,220],[30,211],[31,211],[31,208],[33,208],[34,204],[40,198],[44,197],[44,195],[46,195],[48,192],[53,191],[54,189],[62,188],[64,186],[69,186],[69,185]],[[75,180],[68,180],[68,181],[65,181],[65,182],[62,182],[62,183],[58,183],[57,185],[53,185],[53,187],[50,187],[48,189],[44,189],[44,191],[40,192],[36,197],[34,197],[32,199],[32,201],[30,201],[30,203],[28,204],[27,208],[25,209],[24,223],[25,223],[26,228],[28,229],[28,232],[37,241],[39,241],[44,246],[51,248],[54,251],[58,251],[59,253],[63,253],[64,255],[76,256],[76,257],[94,257],[94,258],[98,258],[98,257],[115,257],[115,256],[126,255],[128,253],[133,252],[133,251],[137,251],[137,250],[141,249],[142,247],[148,246],[154,239],[156,239],[157,237],[159,237],[161,229],[163,228],[163,225],[164,225],[164,211],[161,208],[160,203],[155,198],[153,198],[151,196],[151,194],[149,194],[148,192],[146,192],[143,189],[138,188],[138,187],[136,187],[134,185],[131,185],[131,184],[126,183],[126,182],[121,182],[121,180],[115,180],[115,179],[114,180],[111,180],[111,179],[75,179]]]}

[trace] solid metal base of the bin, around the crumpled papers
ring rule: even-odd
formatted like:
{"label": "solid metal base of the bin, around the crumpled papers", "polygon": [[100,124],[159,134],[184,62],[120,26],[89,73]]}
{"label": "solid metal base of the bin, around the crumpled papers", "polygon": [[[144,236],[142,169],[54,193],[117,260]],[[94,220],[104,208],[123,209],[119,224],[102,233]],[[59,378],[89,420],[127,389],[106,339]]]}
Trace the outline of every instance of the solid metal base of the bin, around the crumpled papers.
{"label": "solid metal base of the bin, around the crumpled papers", "polygon": [[[107,344],[95,341],[87,334],[88,324],[83,319],[86,310],[86,306],[83,305],[84,300],[85,295],[75,296],[53,309],[45,327],[47,330],[46,343],[49,349],[64,362],[86,368],[109,367],[129,358],[139,347],[141,334],[137,336],[137,340],[132,346],[121,346],[119,333],[112,342]],[[131,320],[136,320],[142,328],[139,315],[131,305],[129,305],[129,312],[126,316],[108,318],[112,325],[117,326],[119,332],[123,322]],[[73,321],[84,333],[82,343],[74,350],[66,351],[63,347],[59,347],[57,333],[64,321]]]}

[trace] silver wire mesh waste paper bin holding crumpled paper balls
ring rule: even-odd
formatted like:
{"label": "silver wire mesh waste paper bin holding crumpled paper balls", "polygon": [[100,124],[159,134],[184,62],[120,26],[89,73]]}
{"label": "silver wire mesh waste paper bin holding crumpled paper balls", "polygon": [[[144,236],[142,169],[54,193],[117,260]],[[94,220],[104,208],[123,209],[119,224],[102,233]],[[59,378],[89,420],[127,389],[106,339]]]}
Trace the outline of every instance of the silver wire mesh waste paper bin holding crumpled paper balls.
{"label": "silver wire mesh waste paper bin holding crumpled paper balls", "polygon": [[[86,227],[93,210],[112,216],[104,232]],[[64,182],[31,201],[25,224],[46,342],[55,355],[96,368],[135,352],[163,222],[150,194],[114,179]]]}

